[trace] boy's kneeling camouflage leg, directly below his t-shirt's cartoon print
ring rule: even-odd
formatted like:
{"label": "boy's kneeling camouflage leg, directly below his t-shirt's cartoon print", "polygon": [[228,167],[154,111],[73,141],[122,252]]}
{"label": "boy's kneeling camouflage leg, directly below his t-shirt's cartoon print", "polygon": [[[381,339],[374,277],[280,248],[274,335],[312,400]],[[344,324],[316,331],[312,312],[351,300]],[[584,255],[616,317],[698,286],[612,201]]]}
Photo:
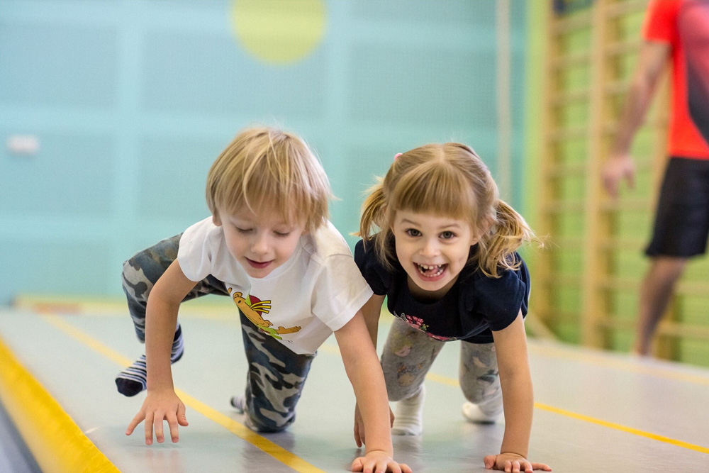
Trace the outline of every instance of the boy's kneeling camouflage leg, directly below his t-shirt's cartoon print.
{"label": "boy's kneeling camouflage leg, directly below his t-shirt's cartoon print", "polygon": [[244,350],[249,363],[246,390],[231,404],[246,413],[246,423],[257,432],[279,432],[296,419],[306,377],[316,355],[298,355],[257,330],[240,313]]}

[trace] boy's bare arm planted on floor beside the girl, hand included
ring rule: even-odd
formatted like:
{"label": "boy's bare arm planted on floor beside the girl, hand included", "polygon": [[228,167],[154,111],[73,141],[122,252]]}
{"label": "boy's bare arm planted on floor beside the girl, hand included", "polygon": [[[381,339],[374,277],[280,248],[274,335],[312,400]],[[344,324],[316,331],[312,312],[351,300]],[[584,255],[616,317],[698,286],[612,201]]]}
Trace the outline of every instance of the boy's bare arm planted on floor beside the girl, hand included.
{"label": "boy's bare arm planted on floor beside the girl, hand included", "polygon": [[362,311],[357,312],[344,327],[335,331],[335,338],[337,345],[340,345],[342,362],[352,383],[364,428],[367,430],[365,456],[354,460],[352,471],[369,471],[371,468],[377,472],[411,473],[411,468],[406,464],[399,465],[393,460],[389,401],[384,374],[381,372],[381,365]]}

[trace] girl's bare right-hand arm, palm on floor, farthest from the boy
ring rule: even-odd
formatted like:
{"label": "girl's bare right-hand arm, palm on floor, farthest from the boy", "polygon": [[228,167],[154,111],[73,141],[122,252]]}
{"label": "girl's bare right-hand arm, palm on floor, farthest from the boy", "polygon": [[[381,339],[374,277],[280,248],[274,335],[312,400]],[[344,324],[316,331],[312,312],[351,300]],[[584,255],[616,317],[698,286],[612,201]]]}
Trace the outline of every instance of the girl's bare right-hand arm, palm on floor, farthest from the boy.
{"label": "girl's bare right-hand arm, palm on floor, farthest from the boy", "polygon": [[532,469],[551,471],[546,464],[527,461],[534,394],[522,312],[507,328],[493,332],[493,338],[505,407],[505,436],[500,454],[485,457],[485,467],[504,470],[509,465],[511,469],[516,466],[524,472],[532,472]]}

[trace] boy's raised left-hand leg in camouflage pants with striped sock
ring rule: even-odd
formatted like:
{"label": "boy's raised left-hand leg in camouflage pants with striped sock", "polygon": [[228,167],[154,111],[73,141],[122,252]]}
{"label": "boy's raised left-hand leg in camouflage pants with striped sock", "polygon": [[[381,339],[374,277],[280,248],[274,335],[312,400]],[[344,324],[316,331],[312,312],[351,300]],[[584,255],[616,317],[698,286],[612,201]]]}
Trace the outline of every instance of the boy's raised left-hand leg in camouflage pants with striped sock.
{"label": "boy's raised left-hand leg in camouflage pants with striped sock", "polygon": [[[140,343],[145,343],[145,309],[152,286],[160,279],[167,267],[177,258],[179,239],[182,235],[162,240],[156,245],[143,250],[123,264],[123,291],[128,299],[128,311],[133,320],[135,335]],[[185,301],[205,294],[228,295],[222,282],[209,276],[199,282],[185,297]],[[175,327],[170,361],[176,362],[182,357],[184,345],[182,328],[179,321]],[[125,396],[135,396],[147,386],[145,355],[141,355],[133,365],[124,369],[116,377],[116,387]]]}

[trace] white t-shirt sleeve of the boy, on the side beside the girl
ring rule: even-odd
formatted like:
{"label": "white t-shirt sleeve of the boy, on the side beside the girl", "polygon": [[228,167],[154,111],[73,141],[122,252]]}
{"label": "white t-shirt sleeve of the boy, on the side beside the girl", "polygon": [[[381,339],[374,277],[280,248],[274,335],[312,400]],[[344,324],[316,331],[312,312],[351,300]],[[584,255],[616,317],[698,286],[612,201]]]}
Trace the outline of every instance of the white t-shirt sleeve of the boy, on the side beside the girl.
{"label": "white t-shirt sleeve of the boy, on the side beside the girl", "polygon": [[340,330],[372,296],[352,255],[332,255],[323,262],[313,289],[313,313]]}

